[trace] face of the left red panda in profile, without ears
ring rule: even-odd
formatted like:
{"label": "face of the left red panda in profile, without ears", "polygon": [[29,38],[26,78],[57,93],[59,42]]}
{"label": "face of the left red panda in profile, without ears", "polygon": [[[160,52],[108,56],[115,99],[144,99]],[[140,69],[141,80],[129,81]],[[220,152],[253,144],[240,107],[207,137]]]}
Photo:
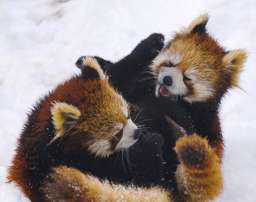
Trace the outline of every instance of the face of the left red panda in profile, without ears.
{"label": "face of the left red panda in profile, without ears", "polygon": [[[94,137],[88,149],[96,156],[103,157],[134,145],[140,131],[132,122],[129,107],[122,96],[112,88],[102,93],[92,113],[94,118],[87,119],[88,122],[83,123],[83,128]],[[97,109],[99,107],[100,111]],[[99,123],[101,127],[98,126]],[[90,125],[90,128],[86,125]]]}

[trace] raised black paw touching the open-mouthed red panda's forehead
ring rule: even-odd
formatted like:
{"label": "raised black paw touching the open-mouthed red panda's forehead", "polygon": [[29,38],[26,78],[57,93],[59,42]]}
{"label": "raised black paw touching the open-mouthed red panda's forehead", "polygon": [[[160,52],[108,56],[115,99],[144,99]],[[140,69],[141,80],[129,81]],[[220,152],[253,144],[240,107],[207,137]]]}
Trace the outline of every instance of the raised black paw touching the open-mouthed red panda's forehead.
{"label": "raised black paw touching the open-mouthed red panda's forehead", "polygon": [[163,34],[151,34],[148,38],[142,40],[132,51],[134,57],[146,66],[158,55],[164,45]]}

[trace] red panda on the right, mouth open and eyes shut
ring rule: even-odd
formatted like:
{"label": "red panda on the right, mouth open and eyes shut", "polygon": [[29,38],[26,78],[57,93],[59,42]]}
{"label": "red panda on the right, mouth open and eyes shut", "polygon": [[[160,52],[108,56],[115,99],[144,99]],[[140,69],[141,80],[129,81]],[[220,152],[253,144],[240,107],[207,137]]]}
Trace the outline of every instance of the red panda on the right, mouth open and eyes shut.
{"label": "red panda on the right, mouth open and eyes shut", "polygon": [[[247,53],[241,49],[226,51],[208,33],[208,19],[208,14],[202,14],[188,28],[175,33],[151,64],[148,63],[151,54],[146,59],[138,59],[134,54],[142,54],[138,53],[138,47],[148,53],[148,49],[159,44],[159,38],[152,41],[152,36],[157,34],[148,37],[147,42],[147,39],[143,40],[131,54],[117,63],[99,58],[111,83],[136,106],[137,110],[131,112],[131,117],[137,117],[137,123],[143,121],[147,131],[163,135],[165,187],[178,187],[173,173],[179,163],[173,152],[176,137],[163,124],[166,116],[181,125],[188,134],[196,132],[207,138],[219,157],[219,163],[224,153],[219,107],[227,91],[239,87],[239,75]],[[148,67],[143,69],[142,66]],[[183,111],[177,111],[177,105]]]}

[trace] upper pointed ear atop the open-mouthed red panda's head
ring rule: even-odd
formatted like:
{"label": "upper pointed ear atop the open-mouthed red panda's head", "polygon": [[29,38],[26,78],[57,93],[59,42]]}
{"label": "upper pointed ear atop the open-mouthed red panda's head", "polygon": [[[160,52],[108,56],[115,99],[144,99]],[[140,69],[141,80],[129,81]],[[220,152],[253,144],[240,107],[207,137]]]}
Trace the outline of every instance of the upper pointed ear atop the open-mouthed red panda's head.
{"label": "upper pointed ear atop the open-mouthed red panda's head", "polygon": [[203,34],[207,31],[206,24],[209,20],[208,13],[201,14],[188,27],[189,33]]}

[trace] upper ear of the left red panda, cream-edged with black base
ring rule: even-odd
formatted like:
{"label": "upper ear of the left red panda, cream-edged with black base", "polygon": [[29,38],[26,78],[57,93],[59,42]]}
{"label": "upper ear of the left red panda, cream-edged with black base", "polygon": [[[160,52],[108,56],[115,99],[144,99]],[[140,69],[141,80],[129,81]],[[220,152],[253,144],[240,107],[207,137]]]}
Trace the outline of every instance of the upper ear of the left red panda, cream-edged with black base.
{"label": "upper ear of the left red panda, cream-edged with black base", "polygon": [[87,79],[105,80],[105,74],[94,57],[80,57],[76,66],[81,69],[82,75]]}

